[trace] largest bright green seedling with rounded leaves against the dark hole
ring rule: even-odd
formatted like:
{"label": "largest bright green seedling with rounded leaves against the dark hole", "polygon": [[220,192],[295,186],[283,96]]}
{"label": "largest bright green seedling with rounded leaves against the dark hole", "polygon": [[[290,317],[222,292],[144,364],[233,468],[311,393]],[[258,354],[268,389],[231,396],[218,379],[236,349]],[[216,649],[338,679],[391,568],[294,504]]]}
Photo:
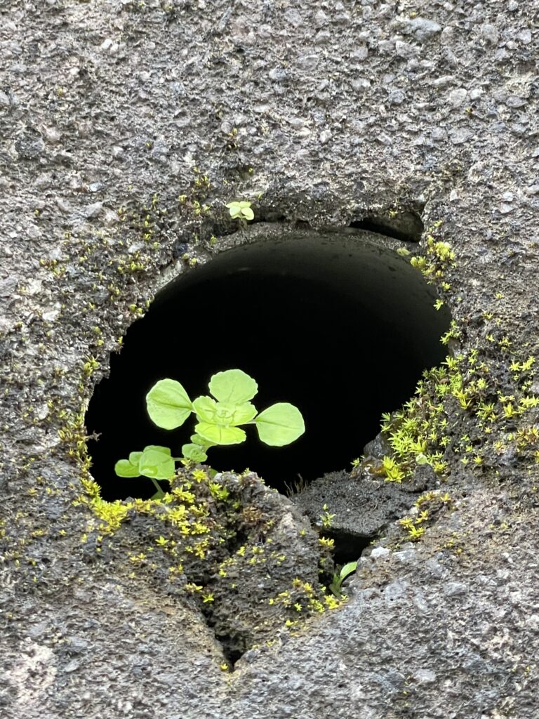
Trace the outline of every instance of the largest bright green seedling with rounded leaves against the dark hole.
{"label": "largest bright green seedling with rounded leaves against the dark hole", "polygon": [[119,477],[149,477],[168,480],[174,475],[175,462],[205,462],[208,449],[226,444],[241,444],[247,439],[239,425],[254,424],[264,444],[285,446],[305,431],[303,416],[297,407],[278,402],[262,412],[250,400],[258,392],[252,377],[241,370],[217,372],[209,383],[211,395],[191,401],[176,380],[159,380],[146,395],[150,419],[162,429],[177,429],[191,413],[195,414],[195,434],[182,447],[183,457],[172,457],[168,447],[149,445],[142,452],[132,452],[129,459],[120,459],[114,470]]}

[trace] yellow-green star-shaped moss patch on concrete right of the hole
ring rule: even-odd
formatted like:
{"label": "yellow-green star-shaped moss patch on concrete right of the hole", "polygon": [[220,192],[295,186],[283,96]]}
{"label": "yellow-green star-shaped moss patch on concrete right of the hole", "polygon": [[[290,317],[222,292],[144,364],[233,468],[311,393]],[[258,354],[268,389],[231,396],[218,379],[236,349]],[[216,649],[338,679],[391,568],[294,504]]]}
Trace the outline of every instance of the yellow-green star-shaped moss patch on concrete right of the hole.
{"label": "yellow-green star-shaped moss patch on concrete right of the hole", "polygon": [[383,416],[392,454],[374,467],[372,459],[358,460],[357,469],[401,482],[418,464],[443,477],[455,459],[495,468],[508,457],[539,462],[539,398],[530,392],[535,357],[513,351],[506,336],[494,342],[501,363],[496,353],[476,347],[425,372],[414,397]]}

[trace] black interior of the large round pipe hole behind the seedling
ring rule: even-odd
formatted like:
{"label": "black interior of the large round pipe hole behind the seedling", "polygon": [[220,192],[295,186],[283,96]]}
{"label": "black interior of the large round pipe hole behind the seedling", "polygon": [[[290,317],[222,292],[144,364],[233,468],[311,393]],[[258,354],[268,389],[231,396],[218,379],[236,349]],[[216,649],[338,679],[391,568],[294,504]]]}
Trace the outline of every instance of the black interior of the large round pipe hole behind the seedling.
{"label": "black interior of the large round pipe hole behind the seedling", "polygon": [[88,432],[100,434],[88,449],[103,498],[151,496],[150,480],[116,477],[115,462],[147,444],[178,456],[193,434],[194,416],[172,431],[149,420],[152,385],[171,377],[193,399],[208,394],[211,375],[234,367],[257,380],[259,411],[291,402],[306,431],[270,447],[247,426],[244,444],[209,450],[211,467],[249,467],[280,492],[300,477],[349,468],[381,413],[405,402],[421,372],[445,356],[439,338],[450,317],[435,300],[420,273],[370,232],[298,232],[184,273],[129,328],[88,407]]}

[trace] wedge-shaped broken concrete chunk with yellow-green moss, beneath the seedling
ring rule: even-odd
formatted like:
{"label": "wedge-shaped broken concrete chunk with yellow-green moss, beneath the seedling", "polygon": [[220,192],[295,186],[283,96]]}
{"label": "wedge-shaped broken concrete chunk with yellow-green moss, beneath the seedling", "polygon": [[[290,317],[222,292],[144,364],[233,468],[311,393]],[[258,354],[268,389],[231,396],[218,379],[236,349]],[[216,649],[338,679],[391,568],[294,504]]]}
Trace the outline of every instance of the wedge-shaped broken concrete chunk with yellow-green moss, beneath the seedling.
{"label": "wedge-shaped broken concrete chunk with yellow-green moss, beneath the seedling", "polygon": [[104,501],[96,482],[82,481],[75,504],[91,510],[83,544],[194,603],[227,656],[342,604],[322,583],[332,547],[252,472],[211,477],[185,467],[163,498],[123,502]]}

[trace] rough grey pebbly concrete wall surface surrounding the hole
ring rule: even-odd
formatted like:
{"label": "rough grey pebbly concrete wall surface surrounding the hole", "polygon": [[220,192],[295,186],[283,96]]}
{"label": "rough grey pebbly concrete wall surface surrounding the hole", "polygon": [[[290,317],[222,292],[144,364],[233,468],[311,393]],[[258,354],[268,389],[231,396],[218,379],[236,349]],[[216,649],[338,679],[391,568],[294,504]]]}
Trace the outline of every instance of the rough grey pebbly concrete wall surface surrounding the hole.
{"label": "rough grey pebbly concrete wall surface surrounding the hole", "polygon": [[[520,366],[538,19],[536,0],[0,0],[1,716],[538,715],[538,414],[519,404],[539,394]],[[484,362],[496,421],[453,396],[449,508],[420,541],[392,525],[344,608],[229,672],[198,607],[127,558],[129,526],[97,551],[80,413],[161,273],[234,231],[234,198],[315,229],[421,214],[421,247],[436,227],[455,253],[439,291],[464,390]]]}

